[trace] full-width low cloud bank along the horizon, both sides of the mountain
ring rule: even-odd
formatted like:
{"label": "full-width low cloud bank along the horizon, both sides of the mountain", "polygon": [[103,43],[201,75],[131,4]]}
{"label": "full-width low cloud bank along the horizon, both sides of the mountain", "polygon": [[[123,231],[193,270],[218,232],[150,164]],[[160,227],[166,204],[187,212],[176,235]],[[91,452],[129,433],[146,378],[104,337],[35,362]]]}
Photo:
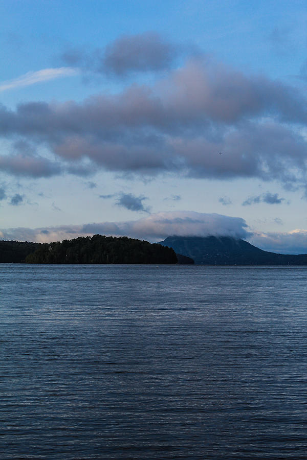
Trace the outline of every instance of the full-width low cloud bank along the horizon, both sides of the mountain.
{"label": "full-width low cloud bank along the horizon, both sides of the mountain", "polygon": [[170,235],[230,236],[245,239],[267,251],[281,254],[307,254],[306,230],[296,229],[286,233],[251,233],[246,221],[240,217],[192,211],[161,212],[125,222],[96,222],[34,229],[25,227],[2,229],[0,239],[45,243],[95,234],[128,236],[151,242],[161,241]]}

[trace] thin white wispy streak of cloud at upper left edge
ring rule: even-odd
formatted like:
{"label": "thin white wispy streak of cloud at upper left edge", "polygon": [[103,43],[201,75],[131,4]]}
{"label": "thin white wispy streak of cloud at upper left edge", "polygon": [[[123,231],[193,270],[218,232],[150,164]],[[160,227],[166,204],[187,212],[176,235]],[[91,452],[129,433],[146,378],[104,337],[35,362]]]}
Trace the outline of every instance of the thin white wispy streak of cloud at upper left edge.
{"label": "thin white wispy streak of cloud at upper left edge", "polygon": [[30,86],[43,81],[54,80],[61,77],[72,77],[78,75],[80,71],[73,67],[43,68],[36,72],[27,72],[18,78],[0,82],[0,92],[8,89],[21,88]]}

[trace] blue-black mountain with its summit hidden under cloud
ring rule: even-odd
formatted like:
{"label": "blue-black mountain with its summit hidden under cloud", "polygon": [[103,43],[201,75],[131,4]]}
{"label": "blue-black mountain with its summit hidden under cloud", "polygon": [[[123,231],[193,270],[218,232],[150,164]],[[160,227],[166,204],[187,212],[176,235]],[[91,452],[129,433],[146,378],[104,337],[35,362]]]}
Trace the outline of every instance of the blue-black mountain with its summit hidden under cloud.
{"label": "blue-black mountain with its summit hidden under cloud", "polygon": [[159,244],[172,247],[195,264],[204,265],[307,265],[307,254],[285,255],[259,249],[231,237],[167,237]]}

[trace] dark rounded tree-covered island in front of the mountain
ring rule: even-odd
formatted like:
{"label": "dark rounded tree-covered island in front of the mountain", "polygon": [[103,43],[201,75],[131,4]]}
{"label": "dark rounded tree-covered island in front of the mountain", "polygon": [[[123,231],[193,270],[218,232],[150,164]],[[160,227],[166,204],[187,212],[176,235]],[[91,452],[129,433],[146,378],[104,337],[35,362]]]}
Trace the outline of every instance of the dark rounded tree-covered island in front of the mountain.
{"label": "dark rounded tree-covered island in front of the mountain", "polygon": [[79,237],[43,243],[29,254],[32,264],[176,264],[173,249],[128,237]]}

